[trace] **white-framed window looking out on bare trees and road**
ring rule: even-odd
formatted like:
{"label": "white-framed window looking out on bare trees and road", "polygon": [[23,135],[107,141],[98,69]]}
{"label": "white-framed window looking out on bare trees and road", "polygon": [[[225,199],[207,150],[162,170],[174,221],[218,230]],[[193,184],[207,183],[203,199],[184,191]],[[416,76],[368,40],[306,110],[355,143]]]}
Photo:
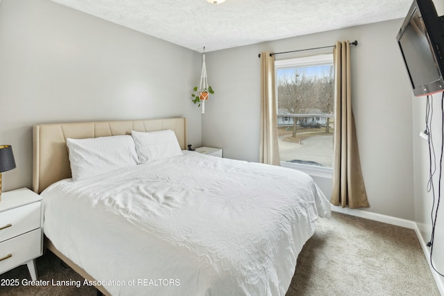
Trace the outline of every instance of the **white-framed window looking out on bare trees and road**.
{"label": "white-framed window looking out on bare trees and road", "polygon": [[282,166],[326,168],[333,162],[333,55],[275,61]]}

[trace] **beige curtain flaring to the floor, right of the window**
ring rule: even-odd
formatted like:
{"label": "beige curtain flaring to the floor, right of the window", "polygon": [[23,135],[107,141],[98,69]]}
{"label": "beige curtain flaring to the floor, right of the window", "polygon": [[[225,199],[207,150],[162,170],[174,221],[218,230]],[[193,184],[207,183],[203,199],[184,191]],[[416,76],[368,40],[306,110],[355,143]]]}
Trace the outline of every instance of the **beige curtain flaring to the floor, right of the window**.
{"label": "beige curtain flaring to the floor, right of the window", "polygon": [[361,172],[350,82],[350,42],[334,49],[334,146],[331,202],[352,209],[370,207]]}

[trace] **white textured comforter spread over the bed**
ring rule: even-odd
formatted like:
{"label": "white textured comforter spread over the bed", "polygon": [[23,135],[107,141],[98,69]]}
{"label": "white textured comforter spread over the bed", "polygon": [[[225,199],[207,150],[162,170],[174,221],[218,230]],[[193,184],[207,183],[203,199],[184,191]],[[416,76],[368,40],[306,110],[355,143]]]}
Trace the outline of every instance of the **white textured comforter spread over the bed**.
{"label": "white textured comforter spread over the bed", "polygon": [[284,295],[330,216],[305,173],[187,151],[42,196],[46,236],[112,295]]}

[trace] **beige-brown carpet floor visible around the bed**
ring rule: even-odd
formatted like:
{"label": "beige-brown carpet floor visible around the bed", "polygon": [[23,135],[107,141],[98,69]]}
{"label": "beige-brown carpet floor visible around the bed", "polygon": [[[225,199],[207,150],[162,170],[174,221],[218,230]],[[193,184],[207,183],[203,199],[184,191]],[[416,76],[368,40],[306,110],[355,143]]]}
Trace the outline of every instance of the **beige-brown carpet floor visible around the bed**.
{"label": "beige-brown carpet floor visible around the bed", "polygon": [[[37,271],[44,280],[82,280],[51,252],[37,259]],[[22,265],[0,275],[0,284],[2,279],[31,277]],[[0,286],[0,295],[96,295],[96,290],[20,284]],[[413,230],[333,213],[331,220],[318,221],[299,255],[287,296],[300,295],[438,296],[439,292]]]}

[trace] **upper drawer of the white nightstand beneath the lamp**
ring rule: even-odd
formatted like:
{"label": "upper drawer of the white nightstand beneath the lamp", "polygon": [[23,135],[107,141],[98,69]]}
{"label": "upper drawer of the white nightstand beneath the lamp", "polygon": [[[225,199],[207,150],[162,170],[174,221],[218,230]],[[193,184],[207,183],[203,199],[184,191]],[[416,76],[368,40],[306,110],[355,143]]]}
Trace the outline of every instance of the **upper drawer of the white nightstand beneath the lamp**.
{"label": "upper drawer of the white nightstand beneath the lamp", "polygon": [[2,211],[0,214],[0,242],[40,228],[41,202]]}

